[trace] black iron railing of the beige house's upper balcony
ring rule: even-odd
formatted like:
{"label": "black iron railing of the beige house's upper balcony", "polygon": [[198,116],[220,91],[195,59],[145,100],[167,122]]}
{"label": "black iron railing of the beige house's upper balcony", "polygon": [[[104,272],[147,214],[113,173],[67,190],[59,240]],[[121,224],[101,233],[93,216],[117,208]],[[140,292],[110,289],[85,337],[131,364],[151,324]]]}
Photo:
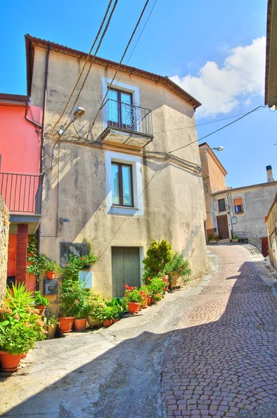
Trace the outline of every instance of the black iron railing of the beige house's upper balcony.
{"label": "black iron railing of the beige house's upper balcony", "polygon": [[108,127],[153,136],[152,111],[108,99],[102,107],[102,132]]}

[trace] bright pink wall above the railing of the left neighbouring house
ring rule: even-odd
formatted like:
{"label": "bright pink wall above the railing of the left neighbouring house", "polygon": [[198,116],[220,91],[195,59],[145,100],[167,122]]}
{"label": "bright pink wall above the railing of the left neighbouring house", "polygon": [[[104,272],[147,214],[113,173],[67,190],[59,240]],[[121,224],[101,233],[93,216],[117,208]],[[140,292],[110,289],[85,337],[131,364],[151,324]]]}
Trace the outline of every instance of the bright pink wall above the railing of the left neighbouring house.
{"label": "bright pink wall above the railing of the left neighbouring house", "polygon": [[[38,174],[40,130],[24,118],[25,107],[0,105],[1,171]],[[40,123],[42,109],[31,106],[28,117]],[[33,117],[32,117],[33,115]]]}

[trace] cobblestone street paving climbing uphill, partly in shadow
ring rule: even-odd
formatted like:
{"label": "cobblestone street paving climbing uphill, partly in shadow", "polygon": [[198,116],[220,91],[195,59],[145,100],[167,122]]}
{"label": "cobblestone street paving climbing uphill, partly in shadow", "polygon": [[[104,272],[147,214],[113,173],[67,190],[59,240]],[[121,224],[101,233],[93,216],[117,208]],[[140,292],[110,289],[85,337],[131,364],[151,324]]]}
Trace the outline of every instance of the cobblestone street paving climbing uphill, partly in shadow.
{"label": "cobblestone street paving climbing uphill, partly in shadow", "polygon": [[168,417],[235,417],[277,400],[276,298],[245,247],[212,251],[219,270],[184,314],[166,351]]}

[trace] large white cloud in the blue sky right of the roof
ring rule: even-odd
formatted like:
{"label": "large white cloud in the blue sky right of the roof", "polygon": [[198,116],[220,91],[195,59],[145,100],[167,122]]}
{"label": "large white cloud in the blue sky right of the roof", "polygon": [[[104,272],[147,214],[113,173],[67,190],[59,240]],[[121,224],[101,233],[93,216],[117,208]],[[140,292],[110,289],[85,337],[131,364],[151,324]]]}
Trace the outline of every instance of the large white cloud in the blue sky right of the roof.
{"label": "large white cloud in the blue sky right of the roof", "polygon": [[197,76],[171,79],[202,103],[199,116],[228,114],[253,96],[264,95],[265,44],[264,36],[254,39],[251,45],[231,49],[222,68],[207,61]]}

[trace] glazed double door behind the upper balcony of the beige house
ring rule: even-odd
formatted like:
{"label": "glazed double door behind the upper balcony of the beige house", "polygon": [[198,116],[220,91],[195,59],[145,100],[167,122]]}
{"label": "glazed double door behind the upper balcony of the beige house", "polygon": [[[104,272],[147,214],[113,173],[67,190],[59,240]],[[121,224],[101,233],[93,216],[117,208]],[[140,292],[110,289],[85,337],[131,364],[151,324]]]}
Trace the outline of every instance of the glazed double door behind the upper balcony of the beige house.
{"label": "glazed double door behind the upper balcony of the beige house", "polygon": [[132,93],[111,88],[108,101],[108,126],[134,130]]}

